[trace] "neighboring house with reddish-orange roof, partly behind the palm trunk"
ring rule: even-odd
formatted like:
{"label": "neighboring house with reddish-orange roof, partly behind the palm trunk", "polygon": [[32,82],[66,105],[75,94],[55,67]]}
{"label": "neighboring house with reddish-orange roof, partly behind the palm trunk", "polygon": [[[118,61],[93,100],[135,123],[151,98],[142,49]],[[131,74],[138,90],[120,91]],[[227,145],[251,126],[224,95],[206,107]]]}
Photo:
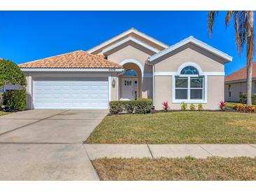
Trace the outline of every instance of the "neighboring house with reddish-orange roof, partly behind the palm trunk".
{"label": "neighboring house with reddish-orange roof, partly behind the palm trunk", "polygon": [[[225,77],[225,101],[239,102],[239,95],[247,92],[247,69],[243,67]],[[256,62],[252,64],[252,93],[256,94]]]}

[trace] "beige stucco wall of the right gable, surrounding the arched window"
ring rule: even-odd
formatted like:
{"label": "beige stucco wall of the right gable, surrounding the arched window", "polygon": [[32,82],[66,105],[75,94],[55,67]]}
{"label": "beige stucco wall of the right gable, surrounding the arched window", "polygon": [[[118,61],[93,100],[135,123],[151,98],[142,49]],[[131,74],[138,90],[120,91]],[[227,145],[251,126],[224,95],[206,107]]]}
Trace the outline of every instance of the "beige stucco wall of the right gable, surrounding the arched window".
{"label": "beige stucco wall of the right gable, surrounding the arched window", "polygon": [[[155,62],[156,72],[177,72],[185,62],[194,62],[203,72],[224,72],[224,62],[215,55],[192,44],[183,46]],[[180,103],[173,103],[173,76],[155,76],[155,107],[163,109],[162,103],[168,101],[170,109],[180,109]],[[207,102],[204,109],[218,109],[224,100],[224,76],[207,76]],[[189,107],[189,104],[188,104]]]}

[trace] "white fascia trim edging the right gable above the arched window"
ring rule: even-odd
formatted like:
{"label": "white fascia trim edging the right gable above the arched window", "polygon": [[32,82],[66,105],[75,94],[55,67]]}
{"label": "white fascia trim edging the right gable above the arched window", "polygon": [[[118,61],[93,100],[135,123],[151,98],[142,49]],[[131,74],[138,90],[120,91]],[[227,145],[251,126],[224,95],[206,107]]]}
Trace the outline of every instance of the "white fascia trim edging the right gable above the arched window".
{"label": "white fascia trim edging the right gable above the arched window", "polygon": [[157,58],[162,57],[163,55],[166,55],[167,53],[170,53],[173,50],[176,50],[177,48],[186,45],[187,43],[193,43],[194,45],[203,48],[204,50],[208,50],[210,53],[213,53],[214,55],[217,55],[218,57],[224,59],[225,62],[232,61],[232,57],[227,55],[226,53],[223,53],[222,51],[217,50],[216,48],[213,48],[212,46],[209,46],[208,44],[203,43],[202,41],[199,41],[198,39],[194,38],[194,36],[189,36],[187,39],[184,39],[174,44],[173,46],[170,46],[169,48],[166,48],[165,50],[162,50],[159,53],[152,55],[151,57],[149,57],[149,62],[154,61]]}

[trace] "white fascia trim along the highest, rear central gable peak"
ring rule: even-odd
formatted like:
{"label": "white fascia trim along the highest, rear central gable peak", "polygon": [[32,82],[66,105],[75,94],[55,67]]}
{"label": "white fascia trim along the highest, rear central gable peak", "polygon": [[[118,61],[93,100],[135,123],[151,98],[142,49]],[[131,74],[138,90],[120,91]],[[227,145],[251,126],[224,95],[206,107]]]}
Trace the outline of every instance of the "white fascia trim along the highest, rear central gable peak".
{"label": "white fascia trim along the highest, rear central gable peak", "polygon": [[109,39],[108,41],[105,41],[105,43],[101,43],[99,46],[95,46],[94,48],[91,48],[90,50],[88,50],[88,53],[93,53],[96,50],[99,50],[100,48],[103,48],[103,47],[109,45],[110,43],[113,43],[114,41],[117,41],[117,40],[123,38],[123,36],[126,36],[126,35],[131,34],[131,33],[135,33],[138,36],[142,36],[144,39],[152,41],[153,43],[156,43],[156,45],[159,45],[159,46],[161,46],[163,48],[168,48],[168,46],[166,44],[161,43],[160,41],[152,38],[151,36],[143,34],[142,32],[139,32],[136,29],[129,29],[128,31],[123,32],[122,34],[119,34],[118,36],[115,36],[112,39]]}

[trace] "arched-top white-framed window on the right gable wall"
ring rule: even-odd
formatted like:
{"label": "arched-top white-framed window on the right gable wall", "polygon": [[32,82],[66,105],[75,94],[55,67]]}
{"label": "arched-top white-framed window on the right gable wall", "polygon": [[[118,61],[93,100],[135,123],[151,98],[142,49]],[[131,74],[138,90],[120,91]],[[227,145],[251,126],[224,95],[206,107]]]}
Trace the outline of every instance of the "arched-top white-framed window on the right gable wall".
{"label": "arched-top white-framed window on the right gable wall", "polygon": [[195,67],[187,66],[175,76],[175,100],[203,101],[204,76],[200,76]]}

